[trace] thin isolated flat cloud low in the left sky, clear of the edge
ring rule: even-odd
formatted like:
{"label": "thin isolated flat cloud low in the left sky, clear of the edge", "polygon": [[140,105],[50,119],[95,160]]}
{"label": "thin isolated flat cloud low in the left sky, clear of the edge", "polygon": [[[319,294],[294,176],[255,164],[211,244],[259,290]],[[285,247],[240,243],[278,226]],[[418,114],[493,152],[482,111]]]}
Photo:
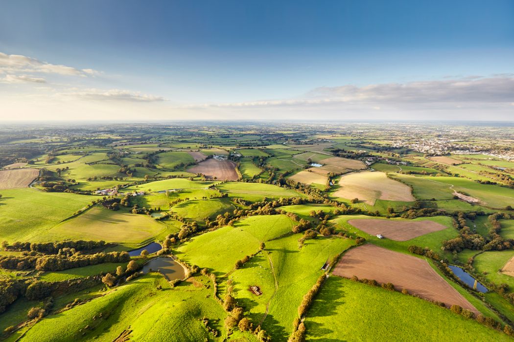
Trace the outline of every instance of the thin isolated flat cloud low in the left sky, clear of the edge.
{"label": "thin isolated flat cloud low in the left sky, clear of the edge", "polygon": [[166,99],[161,96],[141,94],[128,90],[100,90],[100,89],[82,89],[65,93],[58,93],[60,97],[75,97],[86,100],[97,101],[129,101],[129,102],[161,102]]}

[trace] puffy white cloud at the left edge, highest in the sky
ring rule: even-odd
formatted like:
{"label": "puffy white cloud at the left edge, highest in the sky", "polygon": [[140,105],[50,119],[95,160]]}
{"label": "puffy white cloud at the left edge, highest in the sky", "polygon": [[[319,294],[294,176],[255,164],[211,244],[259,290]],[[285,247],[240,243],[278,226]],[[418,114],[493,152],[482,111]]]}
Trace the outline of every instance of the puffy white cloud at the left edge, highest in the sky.
{"label": "puffy white cloud at the left edge, highest in the sky", "polygon": [[0,52],[0,73],[53,73],[71,76],[91,76],[99,72],[93,69],[77,69],[65,65],[50,64],[39,59],[22,56],[8,55]]}

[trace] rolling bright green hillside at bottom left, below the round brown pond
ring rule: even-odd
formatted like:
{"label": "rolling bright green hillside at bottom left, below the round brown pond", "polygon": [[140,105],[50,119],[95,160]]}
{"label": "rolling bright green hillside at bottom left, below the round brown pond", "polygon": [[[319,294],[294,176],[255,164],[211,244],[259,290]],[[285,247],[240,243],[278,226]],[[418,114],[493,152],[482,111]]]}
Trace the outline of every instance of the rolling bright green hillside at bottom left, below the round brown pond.
{"label": "rolling bright green hillside at bottom left, below the round brown pond", "polygon": [[[201,288],[190,283],[170,288],[161,275],[145,275],[102,297],[43,319],[21,340],[115,340],[128,327],[134,340],[221,340],[224,329],[214,324],[214,319],[223,321],[226,314],[210,296],[212,290],[205,287],[210,280],[199,280],[204,284]],[[157,285],[162,290],[157,290]],[[209,336],[201,322],[204,316],[209,318],[210,326],[221,331],[221,337]]]}

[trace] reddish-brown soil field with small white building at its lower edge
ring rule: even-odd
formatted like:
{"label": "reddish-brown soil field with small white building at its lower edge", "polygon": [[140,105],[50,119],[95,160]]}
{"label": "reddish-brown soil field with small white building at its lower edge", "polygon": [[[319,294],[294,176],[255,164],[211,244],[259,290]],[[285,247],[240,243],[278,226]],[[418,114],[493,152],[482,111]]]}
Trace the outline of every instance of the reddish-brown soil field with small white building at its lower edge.
{"label": "reddish-brown soil field with small white building at its lower edge", "polygon": [[392,219],[351,219],[348,223],[370,235],[382,234],[384,237],[395,241],[407,241],[415,237],[446,229],[447,227],[433,222],[424,221],[399,221]]}

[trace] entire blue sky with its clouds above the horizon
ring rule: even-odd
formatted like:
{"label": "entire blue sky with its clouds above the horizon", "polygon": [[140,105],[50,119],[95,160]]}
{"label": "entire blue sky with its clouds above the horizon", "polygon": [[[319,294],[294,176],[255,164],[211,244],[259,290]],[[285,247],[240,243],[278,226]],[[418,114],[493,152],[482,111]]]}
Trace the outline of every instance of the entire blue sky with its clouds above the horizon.
{"label": "entire blue sky with its clouds above the horizon", "polygon": [[0,53],[7,119],[514,113],[512,1],[4,1]]}

